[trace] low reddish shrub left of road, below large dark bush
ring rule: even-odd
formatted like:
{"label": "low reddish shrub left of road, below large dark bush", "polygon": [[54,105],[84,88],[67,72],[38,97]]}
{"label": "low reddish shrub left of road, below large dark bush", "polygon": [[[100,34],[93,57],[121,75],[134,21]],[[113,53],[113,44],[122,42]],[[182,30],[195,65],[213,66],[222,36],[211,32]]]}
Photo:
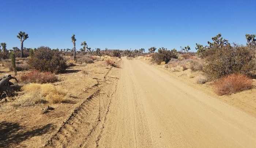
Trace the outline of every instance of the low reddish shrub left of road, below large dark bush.
{"label": "low reddish shrub left of road, below large dark bush", "polygon": [[58,77],[50,72],[31,71],[22,74],[20,81],[27,83],[53,83],[58,81]]}

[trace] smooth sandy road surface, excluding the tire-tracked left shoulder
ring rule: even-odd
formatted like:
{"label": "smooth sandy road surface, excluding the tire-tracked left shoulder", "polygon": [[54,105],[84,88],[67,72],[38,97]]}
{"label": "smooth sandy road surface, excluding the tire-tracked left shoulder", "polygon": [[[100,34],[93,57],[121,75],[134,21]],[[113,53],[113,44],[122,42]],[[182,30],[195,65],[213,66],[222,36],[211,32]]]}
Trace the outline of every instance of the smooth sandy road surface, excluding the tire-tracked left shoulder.
{"label": "smooth sandy road surface, excluding the tire-tracked left shoulder", "polygon": [[98,147],[256,147],[256,118],[142,61],[121,67]]}

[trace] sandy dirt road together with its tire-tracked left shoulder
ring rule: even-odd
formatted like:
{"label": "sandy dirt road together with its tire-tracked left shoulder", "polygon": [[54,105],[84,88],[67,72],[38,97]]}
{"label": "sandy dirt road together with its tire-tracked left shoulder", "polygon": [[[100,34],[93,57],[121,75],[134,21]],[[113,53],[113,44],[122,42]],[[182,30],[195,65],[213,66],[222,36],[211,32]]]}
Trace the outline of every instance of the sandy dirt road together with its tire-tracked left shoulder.
{"label": "sandy dirt road together with its tire-tracked left shoulder", "polygon": [[120,68],[103,75],[40,147],[256,146],[255,116],[157,67],[122,58]]}

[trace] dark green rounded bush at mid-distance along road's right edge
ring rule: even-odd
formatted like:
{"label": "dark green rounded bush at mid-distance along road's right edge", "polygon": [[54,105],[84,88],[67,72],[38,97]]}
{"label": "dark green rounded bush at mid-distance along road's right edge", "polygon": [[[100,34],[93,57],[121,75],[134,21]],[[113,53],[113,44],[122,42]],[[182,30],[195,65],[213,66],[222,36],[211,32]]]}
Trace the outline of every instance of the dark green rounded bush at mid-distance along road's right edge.
{"label": "dark green rounded bush at mid-distance along road's right edge", "polygon": [[162,61],[168,63],[172,58],[178,58],[175,53],[167,49],[159,49],[158,53],[154,53],[152,56],[152,62],[161,64]]}

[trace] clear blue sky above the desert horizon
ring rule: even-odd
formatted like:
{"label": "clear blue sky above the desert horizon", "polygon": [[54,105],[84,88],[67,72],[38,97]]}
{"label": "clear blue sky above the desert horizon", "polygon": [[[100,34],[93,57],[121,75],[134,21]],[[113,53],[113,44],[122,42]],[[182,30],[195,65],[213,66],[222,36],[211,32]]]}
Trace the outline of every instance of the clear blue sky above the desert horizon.
{"label": "clear blue sky above the desert horizon", "polygon": [[0,42],[18,46],[19,31],[29,34],[27,48],[180,49],[206,45],[222,33],[245,44],[256,34],[255,0],[1,0]]}

